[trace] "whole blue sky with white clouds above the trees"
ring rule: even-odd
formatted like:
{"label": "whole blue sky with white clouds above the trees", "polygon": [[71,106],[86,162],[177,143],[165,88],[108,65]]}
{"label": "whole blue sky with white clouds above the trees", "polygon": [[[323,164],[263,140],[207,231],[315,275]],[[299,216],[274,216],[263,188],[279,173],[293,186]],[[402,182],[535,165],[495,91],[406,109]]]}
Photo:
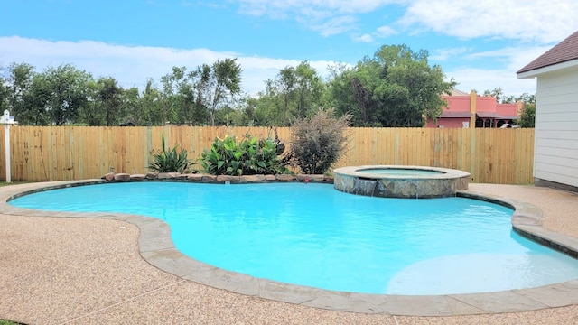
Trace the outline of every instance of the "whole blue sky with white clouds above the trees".
{"label": "whole blue sky with white clouds above the trees", "polygon": [[463,91],[535,93],[516,71],[578,30],[575,0],[0,0],[0,66],[71,63],[125,88],[238,58],[256,94],[307,60],[322,76],[382,45],[429,52]]}

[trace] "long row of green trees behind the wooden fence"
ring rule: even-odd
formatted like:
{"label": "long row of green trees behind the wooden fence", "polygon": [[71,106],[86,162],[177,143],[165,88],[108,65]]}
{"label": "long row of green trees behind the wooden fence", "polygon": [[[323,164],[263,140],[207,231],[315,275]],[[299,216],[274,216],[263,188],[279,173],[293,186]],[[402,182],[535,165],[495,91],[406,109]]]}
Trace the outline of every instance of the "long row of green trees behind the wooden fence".
{"label": "long row of green trees behind the wooden fence", "polygon": [[[27,63],[0,66],[0,107],[21,125],[289,126],[319,109],[351,116],[352,126],[421,127],[441,113],[441,95],[456,85],[428,52],[384,45],[356,65],[329,67],[323,79],[307,61],[279,70],[256,96],[244,95],[237,59],[172,67],[144,88],[123,88],[70,65],[42,71]],[[509,101],[501,88],[487,95]],[[529,103],[533,99],[527,94]],[[531,112],[531,107],[527,109]]]}

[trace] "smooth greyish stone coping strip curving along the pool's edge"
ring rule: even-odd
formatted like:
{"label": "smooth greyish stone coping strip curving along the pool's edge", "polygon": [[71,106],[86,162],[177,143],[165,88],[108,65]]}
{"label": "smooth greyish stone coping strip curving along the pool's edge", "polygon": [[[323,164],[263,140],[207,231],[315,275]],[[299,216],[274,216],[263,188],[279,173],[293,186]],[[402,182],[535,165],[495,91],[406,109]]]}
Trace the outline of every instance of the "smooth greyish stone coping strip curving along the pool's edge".
{"label": "smooth greyish stone coping strip curving along the pool's edge", "polygon": [[[447,295],[385,295],[334,292],[294,284],[278,283],[206,265],[183,255],[172,243],[171,228],[160,219],[115,213],[53,212],[16,208],[7,200],[22,193],[70,186],[103,183],[101,180],[52,181],[0,188],[0,213],[22,217],[108,218],[126,221],[140,229],[140,255],[150,265],[182,279],[211,287],[278,302],[290,302],[332,311],[384,313],[404,316],[458,316],[484,313],[536,311],[578,303],[578,279],[530,289]],[[578,239],[541,227],[543,212],[536,206],[499,196],[460,191],[461,197],[489,200],[515,208],[512,225],[517,231],[553,245],[578,252]]]}

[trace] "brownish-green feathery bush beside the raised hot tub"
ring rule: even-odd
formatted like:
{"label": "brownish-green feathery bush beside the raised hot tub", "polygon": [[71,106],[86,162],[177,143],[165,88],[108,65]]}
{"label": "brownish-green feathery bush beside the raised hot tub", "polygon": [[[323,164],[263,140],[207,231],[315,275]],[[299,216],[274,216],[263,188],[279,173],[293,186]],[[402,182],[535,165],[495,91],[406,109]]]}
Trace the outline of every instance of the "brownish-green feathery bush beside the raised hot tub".
{"label": "brownish-green feathery bush beside the raised hot tub", "polygon": [[332,117],[332,110],[320,109],[311,120],[299,119],[291,127],[292,163],[305,174],[323,174],[340,159],[347,147],[345,130],[350,115]]}

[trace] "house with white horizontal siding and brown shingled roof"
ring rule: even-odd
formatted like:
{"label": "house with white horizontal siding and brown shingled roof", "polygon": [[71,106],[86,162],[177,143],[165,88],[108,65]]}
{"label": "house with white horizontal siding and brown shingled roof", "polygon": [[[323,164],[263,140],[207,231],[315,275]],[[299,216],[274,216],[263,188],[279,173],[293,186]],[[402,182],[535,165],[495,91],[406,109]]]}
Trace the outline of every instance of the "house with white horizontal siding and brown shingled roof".
{"label": "house with white horizontal siding and brown shingled roof", "polygon": [[517,78],[536,78],[535,184],[578,191],[578,32]]}

